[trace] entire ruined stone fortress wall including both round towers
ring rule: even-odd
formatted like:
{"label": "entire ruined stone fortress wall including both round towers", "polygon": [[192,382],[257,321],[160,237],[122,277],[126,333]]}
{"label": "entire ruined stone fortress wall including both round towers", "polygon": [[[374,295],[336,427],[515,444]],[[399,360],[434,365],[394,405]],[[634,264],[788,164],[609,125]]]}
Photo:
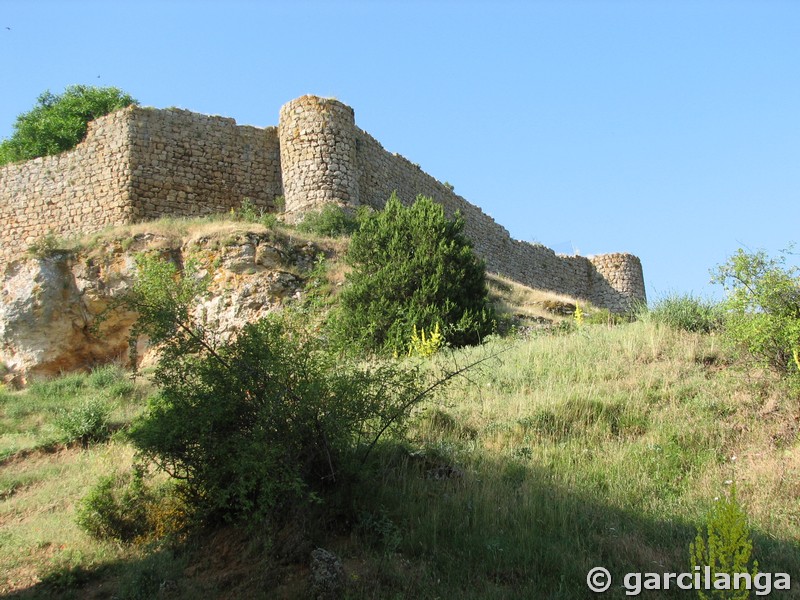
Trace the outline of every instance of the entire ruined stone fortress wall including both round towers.
{"label": "entire ruined stone fortress wall including both round towers", "polygon": [[277,128],[183,110],[128,108],[90,124],[58,156],[0,168],[0,263],[48,233],[88,233],[162,216],[226,212],[244,199],[297,220],[327,203],[382,207],[392,192],[460,211],[487,268],[532,287],[614,311],[645,300],[630,254],[562,256],[514,240],[478,207],[417,165],[387,152],[355,125],[353,109],[303,96],[281,108]]}

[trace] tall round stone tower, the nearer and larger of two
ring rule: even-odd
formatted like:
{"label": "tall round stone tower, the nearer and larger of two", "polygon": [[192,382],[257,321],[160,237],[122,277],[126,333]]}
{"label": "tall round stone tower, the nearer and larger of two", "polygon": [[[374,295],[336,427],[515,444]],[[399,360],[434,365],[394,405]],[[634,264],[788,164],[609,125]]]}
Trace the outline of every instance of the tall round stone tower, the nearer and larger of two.
{"label": "tall round stone tower, the nearer and larger of two", "polygon": [[301,96],[281,107],[278,137],[289,221],[325,204],[358,205],[352,108],[337,100]]}

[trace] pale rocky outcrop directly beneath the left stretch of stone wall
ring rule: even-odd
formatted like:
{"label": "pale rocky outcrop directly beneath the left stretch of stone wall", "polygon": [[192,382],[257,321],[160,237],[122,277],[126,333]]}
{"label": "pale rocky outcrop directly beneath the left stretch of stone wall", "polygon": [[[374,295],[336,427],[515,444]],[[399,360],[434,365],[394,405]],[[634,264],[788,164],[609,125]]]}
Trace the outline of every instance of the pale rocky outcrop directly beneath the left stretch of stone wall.
{"label": "pale rocky outcrop directly beneath the left stretch of stone wall", "polygon": [[[266,228],[227,225],[177,237],[144,231],[14,261],[0,277],[0,375],[24,384],[31,376],[127,363],[136,314],[115,299],[130,289],[140,252],[179,266],[197,261],[211,281],[197,310],[227,337],[298,298],[316,256],[331,250]],[[146,340],[140,346],[146,363],[152,351]]]}

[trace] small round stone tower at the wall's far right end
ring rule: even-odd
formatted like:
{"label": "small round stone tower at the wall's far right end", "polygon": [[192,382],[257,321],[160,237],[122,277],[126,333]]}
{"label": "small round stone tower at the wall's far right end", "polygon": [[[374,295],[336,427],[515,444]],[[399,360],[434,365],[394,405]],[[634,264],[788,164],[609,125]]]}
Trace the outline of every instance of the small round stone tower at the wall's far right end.
{"label": "small round stone tower at the wall's far right end", "polygon": [[599,254],[589,258],[597,272],[592,281],[591,301],[612,312],[628,312],[647,302],[642,261],[633,254]]}

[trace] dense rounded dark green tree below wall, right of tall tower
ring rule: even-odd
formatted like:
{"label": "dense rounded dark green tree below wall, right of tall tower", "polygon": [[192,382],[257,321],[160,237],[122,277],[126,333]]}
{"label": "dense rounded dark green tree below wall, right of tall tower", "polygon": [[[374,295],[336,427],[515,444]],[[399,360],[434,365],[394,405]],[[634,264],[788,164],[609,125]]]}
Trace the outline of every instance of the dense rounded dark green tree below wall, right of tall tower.
{"label": "dense rounded dark green tree below wall, right of tall tower", "polygon": [[340,336],[369,351],[404,354],[414,328],[439,327],[455,346],[494,328],[484,264],[464,236],[464,220],[445,217],[430,198],[403,206],[393,194],[364,215],[346,261],[352,266],[334,321]]}

